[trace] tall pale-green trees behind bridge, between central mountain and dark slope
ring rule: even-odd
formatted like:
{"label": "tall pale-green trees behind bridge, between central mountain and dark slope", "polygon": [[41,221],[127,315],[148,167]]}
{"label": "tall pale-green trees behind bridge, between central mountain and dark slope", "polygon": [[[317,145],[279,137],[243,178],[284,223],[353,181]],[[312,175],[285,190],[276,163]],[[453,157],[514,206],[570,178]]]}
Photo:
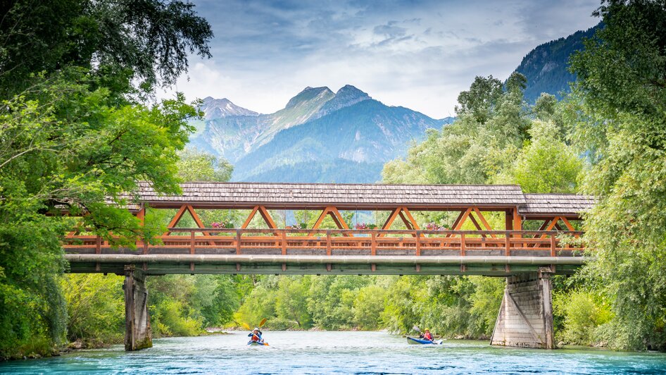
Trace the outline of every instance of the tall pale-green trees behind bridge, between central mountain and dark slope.
{"label": "tall pale-green trees behind bridge, between central mountain and dark slope", "polygon": [[[384,165],[385,183],[486,183],[512,161],[529,137],[529,108],[522,92],[525,78],[513,73],[501,90],[496,78],[477,77],[458,97],[458,119],[408,149],[405,160]],[[498,91],[499,90],[499,91]]]}

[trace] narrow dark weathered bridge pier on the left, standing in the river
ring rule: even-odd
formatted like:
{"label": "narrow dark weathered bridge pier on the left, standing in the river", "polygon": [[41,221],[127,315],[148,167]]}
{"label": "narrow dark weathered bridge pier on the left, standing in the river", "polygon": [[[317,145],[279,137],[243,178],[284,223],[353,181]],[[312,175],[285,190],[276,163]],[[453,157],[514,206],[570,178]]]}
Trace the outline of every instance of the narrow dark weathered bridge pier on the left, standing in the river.
{"label": "narrow dark weathered bridge pier on the left, standing in the river", "polygon": [[153,347],[146,276],[134,264],[125,265],[125,350]]}

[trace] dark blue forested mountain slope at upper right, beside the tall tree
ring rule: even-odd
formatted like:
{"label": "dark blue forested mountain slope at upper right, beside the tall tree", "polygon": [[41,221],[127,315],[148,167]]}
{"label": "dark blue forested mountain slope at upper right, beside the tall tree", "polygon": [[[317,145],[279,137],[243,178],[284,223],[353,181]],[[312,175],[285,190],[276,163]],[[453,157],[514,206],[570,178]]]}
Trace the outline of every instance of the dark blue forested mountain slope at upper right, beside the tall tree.
{"label": "dark blue forested mountain slope at upper right, beside the tall tree", "polygon": [[541,44],[525,56],[515,71],[527,77],[525,100],[534,104],[541,92],[562,99],[562,92],[569,92],[569,82],[576,80],[569,72],[569,57],[583,49],[583,38],[593,37],[601,23],[585,31],[577,31],[568,37]]}

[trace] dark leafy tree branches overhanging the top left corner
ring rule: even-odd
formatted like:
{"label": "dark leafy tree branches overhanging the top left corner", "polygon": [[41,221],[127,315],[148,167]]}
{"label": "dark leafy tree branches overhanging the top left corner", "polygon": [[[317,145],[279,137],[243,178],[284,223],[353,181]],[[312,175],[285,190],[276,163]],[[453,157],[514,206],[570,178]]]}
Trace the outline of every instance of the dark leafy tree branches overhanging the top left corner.
{"label": "dark leafy tree branches overhanging the top left corner", "polygon": [[[211,56],[211,26],[188,1],[10,0],[0,16],[0,99],[25,90],[34,73],[67,66],[109,78],[129,73],[150,90],[175,82],[188,53]],[[122,93],[127,82],[100,84]]]}

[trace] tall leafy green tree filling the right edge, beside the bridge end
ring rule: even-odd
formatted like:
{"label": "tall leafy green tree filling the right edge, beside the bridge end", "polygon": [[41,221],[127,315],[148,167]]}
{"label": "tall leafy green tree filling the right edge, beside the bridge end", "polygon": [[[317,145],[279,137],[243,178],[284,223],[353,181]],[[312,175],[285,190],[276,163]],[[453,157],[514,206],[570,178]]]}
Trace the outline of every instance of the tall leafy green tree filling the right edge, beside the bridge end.
{"label": "tall leafy green tree filling the right edge, beside the bridge end", "polygon": [[595,15],[605,27],[572,57],[567,104],[597,198],[587,271],[613,302],[610,344],[665,350],[666,3],[603,1]]}

